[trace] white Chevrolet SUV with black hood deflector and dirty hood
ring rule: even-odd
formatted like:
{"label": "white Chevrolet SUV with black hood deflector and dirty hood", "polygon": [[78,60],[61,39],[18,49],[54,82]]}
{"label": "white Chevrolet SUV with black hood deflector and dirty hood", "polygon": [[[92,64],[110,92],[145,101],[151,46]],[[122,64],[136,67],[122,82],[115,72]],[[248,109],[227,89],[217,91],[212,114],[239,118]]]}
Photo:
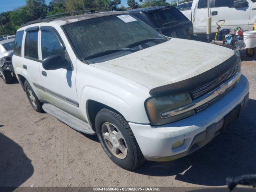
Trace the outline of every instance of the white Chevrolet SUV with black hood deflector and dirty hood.
{"label": "white Chevrolet SUV with black hood deflector and dirty hood", "polygon": [[194,152],[248,101],[238,52],[162,36],[127,12],[25,24],[12,62],[34,110],[97,134],[129,170]]}

